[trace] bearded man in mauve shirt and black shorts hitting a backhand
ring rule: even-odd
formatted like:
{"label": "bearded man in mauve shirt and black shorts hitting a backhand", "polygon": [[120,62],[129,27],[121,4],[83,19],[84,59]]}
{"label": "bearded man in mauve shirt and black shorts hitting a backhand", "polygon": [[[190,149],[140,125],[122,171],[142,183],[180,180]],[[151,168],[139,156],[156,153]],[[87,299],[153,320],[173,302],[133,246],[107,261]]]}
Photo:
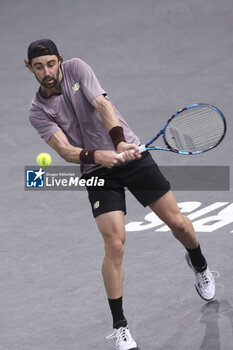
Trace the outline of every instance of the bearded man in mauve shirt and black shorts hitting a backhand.
{"label": "bearded man in mauve shirt and black shorts hitting a backhand", "polygon": [[31,43],[25,62],[40,84],[29,112],[32,125],[67,162],[81,164],[85,179],[93,175],[105,179],[102,190],[90,188],[88,195],[105,244],[102,273],[114,328],[108,338],[116,338],[117,350],[137,349],[122,306],[124,187],[149,206],[186,248],[195,287],[205,300],[214,298],[214,278],[169,183],[148,152],[138,153],[140,140],[108,99],[91,67],[77,58],[62,62],[49,39]]}

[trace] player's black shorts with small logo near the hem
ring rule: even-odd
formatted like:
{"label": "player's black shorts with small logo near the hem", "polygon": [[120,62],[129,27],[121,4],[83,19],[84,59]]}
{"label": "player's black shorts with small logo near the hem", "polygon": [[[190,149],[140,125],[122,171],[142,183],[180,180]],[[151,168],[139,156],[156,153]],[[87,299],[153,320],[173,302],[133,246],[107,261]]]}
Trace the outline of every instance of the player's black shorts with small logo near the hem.
{"label": "player's black shorts with small logo near the hem", "polygon": [[148,206],[170,190],[170,184],[160,172],[149,152],[142,158],[112,169],[101,168],[82,178],[104,179],[104,186],[86,186],[92,213],[98,215],[115,210],[126,213],[125,188],[144,206]]}

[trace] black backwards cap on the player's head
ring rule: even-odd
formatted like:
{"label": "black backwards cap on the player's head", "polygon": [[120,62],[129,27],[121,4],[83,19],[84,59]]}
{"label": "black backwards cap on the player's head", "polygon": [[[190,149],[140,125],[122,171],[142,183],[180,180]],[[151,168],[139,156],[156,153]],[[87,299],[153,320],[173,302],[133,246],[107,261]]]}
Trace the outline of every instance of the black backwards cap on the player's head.
{"label": "black backwards cap on the player's head", "polygon": [[56,44],[50,39],[33,41],[28,47],[28,60],[46,55],[59,55]]}

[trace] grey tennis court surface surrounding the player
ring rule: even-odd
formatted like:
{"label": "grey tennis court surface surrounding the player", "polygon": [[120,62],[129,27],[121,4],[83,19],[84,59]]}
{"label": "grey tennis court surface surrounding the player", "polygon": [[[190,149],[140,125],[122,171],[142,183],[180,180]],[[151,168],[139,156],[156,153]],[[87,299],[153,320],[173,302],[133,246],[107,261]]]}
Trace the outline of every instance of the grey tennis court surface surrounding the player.
{"label": "grey tennis court surface surrounding the player", "polygon": [[[0,350],[110,350],[103,243],[85,191],[24,189],[24,166],[49,152],[27,113],[38,88],[28,44],[57,42],[80,57],[142,141],[185,105],[222,110],[223,143],[200,156],[154,152],[161,166],[226,166],[229,190],[175,191],[216,277],[202,301],[185,251],[127,193],[125,313],[141,350],[233,348],[231,0],[1,0]],[[221,179],[221,176],[220,176]]]}

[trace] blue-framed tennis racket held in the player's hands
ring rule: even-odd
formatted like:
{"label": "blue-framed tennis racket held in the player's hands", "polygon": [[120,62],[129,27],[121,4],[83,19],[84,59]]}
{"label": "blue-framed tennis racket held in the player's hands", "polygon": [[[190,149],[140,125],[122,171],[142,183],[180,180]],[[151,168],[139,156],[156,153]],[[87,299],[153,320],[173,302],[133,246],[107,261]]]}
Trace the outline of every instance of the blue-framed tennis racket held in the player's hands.
{"label": "blue-framed tennis racket held in the player's hands", "polygon": [[218,108],[203,103],[193,104],[173,114],[157,135],[139,146],[139,153],[160,150],[185,155],[201,154],[218,146],[226,129],[226,120]]}

